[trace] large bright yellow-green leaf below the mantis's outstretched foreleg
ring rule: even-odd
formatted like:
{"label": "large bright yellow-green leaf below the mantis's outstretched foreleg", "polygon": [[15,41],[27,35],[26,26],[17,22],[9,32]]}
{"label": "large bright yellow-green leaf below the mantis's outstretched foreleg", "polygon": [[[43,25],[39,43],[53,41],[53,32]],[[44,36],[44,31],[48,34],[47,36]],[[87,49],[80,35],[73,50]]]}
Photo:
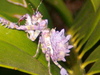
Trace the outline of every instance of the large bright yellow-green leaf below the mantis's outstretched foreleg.
{"label": "large bright yellow-green leaf below the mantis's outstretched foreleg", "polygon": [[36,44],[31,42],[24,32],[0,26],[0,66],[17,68],[30,74],[47,75],[47,67],[32,57],[35,51]]}

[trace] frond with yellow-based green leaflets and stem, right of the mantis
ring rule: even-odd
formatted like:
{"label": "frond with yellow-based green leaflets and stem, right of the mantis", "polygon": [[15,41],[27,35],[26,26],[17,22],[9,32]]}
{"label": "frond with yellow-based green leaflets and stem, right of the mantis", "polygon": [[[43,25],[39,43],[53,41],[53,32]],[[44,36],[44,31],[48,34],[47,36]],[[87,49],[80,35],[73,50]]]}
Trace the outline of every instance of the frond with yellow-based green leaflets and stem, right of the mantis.
{"label": "frond with yellow-based green leaflets and stem, right of the mantis", "polygon": [[[93,1],[94,4],[91,0],[86,1],[73,26],[68,31],[68,34],[72,34],[71,42],[74,45],[70,55],[70,75],[100,73],[100,67],[98,67],[100,63],[100,56],[98,55],[100,54],[98,51],[100,49],[98,45],[100,40],[100,6],[98,5],[100,5],[100,1],[98,1],[98,5],[96,5],[96,1]],[[85,73],[87,71],[85,67],[93,62],[92,67]]]}

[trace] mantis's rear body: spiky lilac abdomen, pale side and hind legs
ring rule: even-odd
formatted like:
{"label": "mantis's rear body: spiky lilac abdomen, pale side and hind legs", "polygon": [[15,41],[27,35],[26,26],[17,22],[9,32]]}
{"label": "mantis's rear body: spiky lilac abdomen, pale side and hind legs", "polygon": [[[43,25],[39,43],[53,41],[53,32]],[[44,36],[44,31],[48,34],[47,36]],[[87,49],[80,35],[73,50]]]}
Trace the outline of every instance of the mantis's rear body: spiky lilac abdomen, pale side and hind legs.
{"label": "mantis's rear body: spiky lilac abdomen, pale side and hind legs", "polygon": [[[46,60],[50,63],[50,58],[60,68],[61,75],[68,75],[67,71],[58,63],[58,61],[65,62],[65,56],[69,56],[70,49],[73,47],[69,45],[68,41],[71,35],[65,36],[65,31],[60,32],[55,29],[46,29],[42,31],[41,42],[42,52],[46,55]],[[48,65],[50,68],[50,66]],[[50,69],[49,69],[50,71]],[[51,73],[49,73],[51,75]]]}

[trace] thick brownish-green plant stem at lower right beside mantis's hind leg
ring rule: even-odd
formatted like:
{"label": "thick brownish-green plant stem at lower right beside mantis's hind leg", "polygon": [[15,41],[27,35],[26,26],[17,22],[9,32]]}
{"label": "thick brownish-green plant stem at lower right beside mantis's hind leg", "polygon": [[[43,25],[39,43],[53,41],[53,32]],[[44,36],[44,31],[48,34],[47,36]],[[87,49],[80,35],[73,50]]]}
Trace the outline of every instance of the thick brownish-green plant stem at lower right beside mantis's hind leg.
{"label": "thick brownish-green plant stem at lower right beside mantis's hind leg", "polygon": [[70,75],[84,75],[84,69],[80,67],[81,62],[82,61],[78,59],[78,54],[75,52],[75,50],[72,50],[70,55],[70,63],[73,72]]}

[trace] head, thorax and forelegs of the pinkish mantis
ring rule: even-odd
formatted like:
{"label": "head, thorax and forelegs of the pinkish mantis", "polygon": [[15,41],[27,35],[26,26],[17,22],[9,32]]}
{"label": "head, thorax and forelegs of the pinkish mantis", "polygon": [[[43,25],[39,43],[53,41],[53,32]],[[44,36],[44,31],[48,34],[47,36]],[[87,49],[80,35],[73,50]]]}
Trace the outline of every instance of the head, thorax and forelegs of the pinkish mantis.
{"label": "head, thorax and forelegs of the pinkish mantis", "polygon": [[25,14],[19,19],[18,23],[26,20],[24,25],[18,26],[15,23],[5,20],[4,18],[0,18],[0,23],[2,23],[2,25],[5,25],[7,28],[24,30],[27,33],[28,38],[32,41],[35,41],[40,32],[46,29],[48,25],[48,20],[42,19],[42,17],[43,16],[41,15],[41,13],[37,11],[32,15],[32,17],[29,14]]}

